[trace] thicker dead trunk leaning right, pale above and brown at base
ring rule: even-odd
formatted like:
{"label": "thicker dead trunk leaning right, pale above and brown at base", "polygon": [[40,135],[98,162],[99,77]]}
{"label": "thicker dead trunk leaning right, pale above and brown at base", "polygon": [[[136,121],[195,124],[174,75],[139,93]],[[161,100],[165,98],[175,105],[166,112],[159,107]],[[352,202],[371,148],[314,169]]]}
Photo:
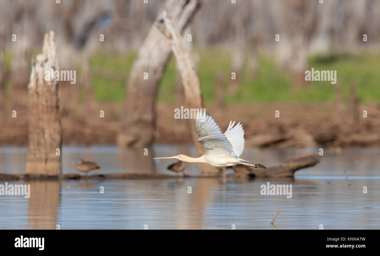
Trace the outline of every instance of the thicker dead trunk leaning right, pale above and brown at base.
{"label": "thicker dead trunk leaning right, pale above and brown at base", "polygon": [[[180,33],[200,7],[201,0],[168,0],[167,16]],[[158,19],[163,17],[163,12]],[[123,102],[123,117],[117,143],[121,147],[144,147],[153,140],[155,98],[171,48],[153,25],[142,44],[128,79]]]}

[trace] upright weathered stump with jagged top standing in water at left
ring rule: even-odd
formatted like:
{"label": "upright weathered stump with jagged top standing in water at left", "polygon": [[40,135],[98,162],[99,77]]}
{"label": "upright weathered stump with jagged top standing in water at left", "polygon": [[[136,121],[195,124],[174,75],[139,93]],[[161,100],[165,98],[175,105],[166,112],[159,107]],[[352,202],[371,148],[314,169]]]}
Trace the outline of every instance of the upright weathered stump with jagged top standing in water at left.
{"label": "upright weathered stump with jagged top standing in water at left", "polygon": [[[54,32],[46,33],[42,54],[32,62],[28,84],[29,145],[26,173],[61,173],[62,127],[59,116],[59,81],[46,81],[45,71],[59,72]],[[52,80],[52,79],[51,79]],[[59,154],[58,154],[59,153]]]}

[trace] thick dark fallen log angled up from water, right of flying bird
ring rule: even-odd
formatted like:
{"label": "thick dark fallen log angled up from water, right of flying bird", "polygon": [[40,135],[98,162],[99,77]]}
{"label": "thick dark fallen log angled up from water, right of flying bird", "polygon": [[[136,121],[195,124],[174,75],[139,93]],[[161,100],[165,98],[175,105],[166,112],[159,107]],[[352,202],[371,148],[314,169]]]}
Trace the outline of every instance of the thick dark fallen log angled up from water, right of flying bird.
{"label": "thick dark fallen log angled up from water, right of flying bird", "polygon": [[256,169],[247,165],[234,165],[233,173],[230,176],[256,176],[256,177],[293,177],[296,170],[311,167],[319,163],[319,154],[291,159],[282,164],[269,167],[268,169]]}

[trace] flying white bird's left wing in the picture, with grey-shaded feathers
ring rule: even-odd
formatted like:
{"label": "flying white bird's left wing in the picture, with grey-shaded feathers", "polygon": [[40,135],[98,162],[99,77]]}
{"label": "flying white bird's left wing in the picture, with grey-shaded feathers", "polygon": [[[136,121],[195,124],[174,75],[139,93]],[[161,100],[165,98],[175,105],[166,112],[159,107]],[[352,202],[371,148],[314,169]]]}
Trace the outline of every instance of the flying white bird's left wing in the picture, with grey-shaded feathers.
{"label": "flying white bird's left wing in the picture, with grey-shaded feathers", "polygon": [[233,146],[210,114],[200,116],[199,112],[197,112],[195,126],[196,138],[206,150],[206,154],[236,158]]}

